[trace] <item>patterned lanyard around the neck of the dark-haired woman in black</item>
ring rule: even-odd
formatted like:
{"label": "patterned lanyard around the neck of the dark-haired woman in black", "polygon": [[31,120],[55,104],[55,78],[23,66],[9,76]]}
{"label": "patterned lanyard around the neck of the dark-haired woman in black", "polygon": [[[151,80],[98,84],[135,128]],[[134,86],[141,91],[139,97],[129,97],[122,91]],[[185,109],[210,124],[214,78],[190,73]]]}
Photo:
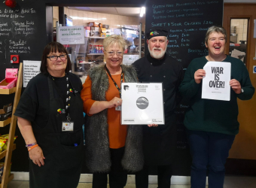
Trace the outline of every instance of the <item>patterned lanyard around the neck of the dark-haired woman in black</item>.
{"label": "patterned lanyard around the neck of the dark-haired woman in black", "polygon": [[[55,81],[54,81],[54,77],[52,77],[50,74],[49,74],[49,77],[50,77],[50,80],[53,80],[53,85],[55,86],[56,88],[56,91],[58,92],[59,96],[63,96],[65,95],[65,93],[63,93],[59,87],[56,85]],[[66,104],[65,104],[65,110],[62,111],[62,114],[66,114],[66,118],[68,121],[71,120],[71,118],[69,117],[69,108],[70,108],[70,99],[71,99],[71,93],[73,92],[73,89],[72,89],[72,84],[71,82],[69,82],[69,77],[67,75],[65,75],[65,78],[66,78],[66,86],[67,86],[67,92],[66,92]],[[71,86],[69,86],[69,83]]]}

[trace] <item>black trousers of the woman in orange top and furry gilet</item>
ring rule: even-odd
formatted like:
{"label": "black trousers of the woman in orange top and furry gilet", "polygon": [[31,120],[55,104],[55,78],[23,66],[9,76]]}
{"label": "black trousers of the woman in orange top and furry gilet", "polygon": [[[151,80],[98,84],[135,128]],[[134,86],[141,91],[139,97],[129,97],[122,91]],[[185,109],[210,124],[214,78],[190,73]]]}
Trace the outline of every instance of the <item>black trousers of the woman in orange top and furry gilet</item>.
{"label": "black trousers of the woman in orange top and furry gilet", "polygon": [[121,160],[124,147],[111,149],[111,171],[109,173],[93,173],[93,188],[107,188],[108,177],[111,188],[123,188],[126,186],[127,171],[123,169]]}

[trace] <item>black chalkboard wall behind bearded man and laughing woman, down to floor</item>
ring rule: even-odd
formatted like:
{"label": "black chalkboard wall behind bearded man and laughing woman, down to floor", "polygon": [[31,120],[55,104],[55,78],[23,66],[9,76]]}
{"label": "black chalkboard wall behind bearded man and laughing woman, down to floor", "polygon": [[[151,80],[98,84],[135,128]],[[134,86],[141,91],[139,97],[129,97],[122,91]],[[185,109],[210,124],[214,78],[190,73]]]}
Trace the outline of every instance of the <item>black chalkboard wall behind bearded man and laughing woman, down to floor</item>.
{"label": "black chalkboard wall behind bearded man and laughing woman, down to floor", "polygon": [[[204,42],[206,31],[210,26],[222,26],[223,1],[150,0],[147,4],[145,32],[157,27],[168,30],[166,53],[181,62],[184,70],[192,59],[208,55]],[[147,54],[148,47],[145,49]],[[190,175],[191,158],[183,124],[187,104],[183,100],[175,111],[178,151],[174,175]]]}

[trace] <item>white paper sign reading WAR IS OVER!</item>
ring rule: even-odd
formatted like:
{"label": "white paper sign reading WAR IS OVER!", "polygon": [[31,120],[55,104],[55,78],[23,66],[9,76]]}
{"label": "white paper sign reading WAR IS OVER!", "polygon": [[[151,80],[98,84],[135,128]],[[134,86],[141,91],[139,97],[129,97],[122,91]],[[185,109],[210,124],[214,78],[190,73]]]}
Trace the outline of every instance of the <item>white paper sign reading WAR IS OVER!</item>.
{"label": "white paper sign reading WAR IS OVER!", "polygon": [[230,62],[207,62],[203,67],[202,99],[230,101]]}

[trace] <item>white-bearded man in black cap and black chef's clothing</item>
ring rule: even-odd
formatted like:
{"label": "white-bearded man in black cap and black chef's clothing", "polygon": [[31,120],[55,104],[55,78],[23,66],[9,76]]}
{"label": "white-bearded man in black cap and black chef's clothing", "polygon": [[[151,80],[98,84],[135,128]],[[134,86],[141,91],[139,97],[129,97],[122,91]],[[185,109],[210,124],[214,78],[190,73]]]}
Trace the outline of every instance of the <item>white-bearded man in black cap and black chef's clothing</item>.
{"label": "white-bearded man in black cap and black chef's clothing", "polygon": [[175,107],[178,86],[183,78],[181,62],[166,54],[168,32],[150,29],[147,33],[149,54],[133,63],[139,82],[163,83],[165,125],[143,126],[145,166],[136,174],[136,188],[148,188],[148,168],[157,166],[158,188],[169,188],[176,153]]}

